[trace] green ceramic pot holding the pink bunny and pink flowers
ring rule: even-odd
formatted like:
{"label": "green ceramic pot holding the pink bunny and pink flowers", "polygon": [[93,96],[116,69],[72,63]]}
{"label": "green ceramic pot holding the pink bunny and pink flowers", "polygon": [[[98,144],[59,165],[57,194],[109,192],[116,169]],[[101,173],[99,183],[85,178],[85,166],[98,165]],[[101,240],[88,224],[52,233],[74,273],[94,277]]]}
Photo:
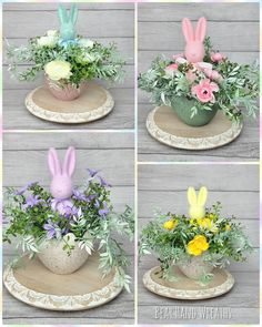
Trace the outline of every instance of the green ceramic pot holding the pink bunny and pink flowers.
{"label": "green ceramic pot holding the pink bunny and pink flowers", "polygon": [[212,121],[215,116],[219,105],[214,104],[212,110],[199,110],[198,114],[191,119],[191,108],[195,104],[195,100],[189,100],[184,96],[174,96],[171,106],[179,119],[190,126],[203,126]]}

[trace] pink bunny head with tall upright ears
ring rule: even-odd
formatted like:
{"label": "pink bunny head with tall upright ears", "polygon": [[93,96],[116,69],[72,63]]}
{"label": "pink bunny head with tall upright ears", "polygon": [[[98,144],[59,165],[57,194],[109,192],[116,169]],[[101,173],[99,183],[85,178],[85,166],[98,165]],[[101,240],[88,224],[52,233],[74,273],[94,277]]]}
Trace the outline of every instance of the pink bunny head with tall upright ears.
{"label": "pink bunny head with tall upright ears", "polygon": [[206,31],[206,20],[201,17],[198,21],[195,32],[192,23],[188,18],[182,21],[182,30],[187,45],[184,49],[184,55],[189,62],[200,62],[204,58],[204,37]]}

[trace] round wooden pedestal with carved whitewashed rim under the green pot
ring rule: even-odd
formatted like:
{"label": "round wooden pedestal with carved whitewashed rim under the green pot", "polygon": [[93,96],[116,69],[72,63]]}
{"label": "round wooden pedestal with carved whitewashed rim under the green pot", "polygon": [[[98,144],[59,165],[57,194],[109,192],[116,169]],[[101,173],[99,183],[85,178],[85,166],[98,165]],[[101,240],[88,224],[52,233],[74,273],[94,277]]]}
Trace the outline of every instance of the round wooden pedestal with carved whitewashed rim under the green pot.
{"label": "round wooden pedestal with carved whitewashed rim under the green pot", "polygon": [[220,147],[235,140],[243,125],[229,121],[219,111],[204,126],[192,127],[184,124],[170,106],[158,106],[147,119],[151,136],[172,147],[185,150],[208,150]]}

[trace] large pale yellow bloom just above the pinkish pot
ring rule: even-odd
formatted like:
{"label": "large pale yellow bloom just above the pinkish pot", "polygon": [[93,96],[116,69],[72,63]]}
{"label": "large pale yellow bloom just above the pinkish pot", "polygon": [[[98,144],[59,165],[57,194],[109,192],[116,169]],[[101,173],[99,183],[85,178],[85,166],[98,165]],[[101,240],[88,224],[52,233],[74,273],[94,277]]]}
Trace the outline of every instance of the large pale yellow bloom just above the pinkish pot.
{"label": "large pale yellow bloom just above the pinkish pot", "polygon": [[62,60],[53,60],[47,63],[44,72],[52,81],[68,80],[72,74],[70,63]]}

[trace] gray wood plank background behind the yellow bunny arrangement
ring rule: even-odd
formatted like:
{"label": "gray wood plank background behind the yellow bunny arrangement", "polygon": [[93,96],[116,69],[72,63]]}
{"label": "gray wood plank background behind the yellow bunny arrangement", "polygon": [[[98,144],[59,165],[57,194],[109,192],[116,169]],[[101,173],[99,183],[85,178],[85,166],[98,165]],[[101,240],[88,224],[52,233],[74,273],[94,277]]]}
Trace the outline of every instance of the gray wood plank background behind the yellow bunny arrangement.
{"label": "gray wood plank background behind the yellow bunny arrangement", "polygon": [[232,318],[226,319],[175,319],[177,324],[258,324],[259,323],[259,238],[260,198],[259,165],[245,164],[160,164],[139,165],[138,211],[139,229],[153,217],[153,210],[163,213],[188,214],[187,190],[202,185],[209,188],[206,206],[216,201],[223,205],[222,214],[234,215],[246,226],[245,233],[255,253],[246,263],[232,263],[229,270],[235,278],[234,288],[226,295],[201,302],[182,302],[153,295],[142,285],[143,274],[158,260],[144,256],[139,266],[139,323],[171,324],[174,319],[155,319],[155,308],[218,307],[230,308]]}

